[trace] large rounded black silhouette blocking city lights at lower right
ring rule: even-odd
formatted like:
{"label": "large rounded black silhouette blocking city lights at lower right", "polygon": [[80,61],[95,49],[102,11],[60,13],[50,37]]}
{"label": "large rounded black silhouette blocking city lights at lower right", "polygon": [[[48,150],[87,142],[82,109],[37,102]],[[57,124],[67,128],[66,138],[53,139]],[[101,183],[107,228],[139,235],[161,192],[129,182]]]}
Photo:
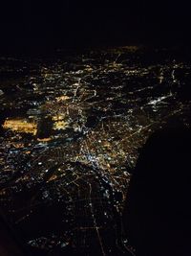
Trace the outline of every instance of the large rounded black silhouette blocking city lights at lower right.
{"label": "large rounded black silhouette blocking city lights at lower right", "polygon": [[123,215],[136,255],[191,255],[190,166],[188,128],[160,130],[143,147]]}

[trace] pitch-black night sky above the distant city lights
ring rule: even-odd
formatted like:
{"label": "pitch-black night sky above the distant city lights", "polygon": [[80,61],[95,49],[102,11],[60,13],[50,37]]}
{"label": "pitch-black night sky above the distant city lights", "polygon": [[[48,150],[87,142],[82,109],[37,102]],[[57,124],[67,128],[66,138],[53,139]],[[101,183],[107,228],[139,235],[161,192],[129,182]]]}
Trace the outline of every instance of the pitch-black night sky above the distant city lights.
{"label": "pitch-black night sky above the distant city lights", "polygon": [[185,0],[1,1],[1,49],[176,44],[189,39]]}

